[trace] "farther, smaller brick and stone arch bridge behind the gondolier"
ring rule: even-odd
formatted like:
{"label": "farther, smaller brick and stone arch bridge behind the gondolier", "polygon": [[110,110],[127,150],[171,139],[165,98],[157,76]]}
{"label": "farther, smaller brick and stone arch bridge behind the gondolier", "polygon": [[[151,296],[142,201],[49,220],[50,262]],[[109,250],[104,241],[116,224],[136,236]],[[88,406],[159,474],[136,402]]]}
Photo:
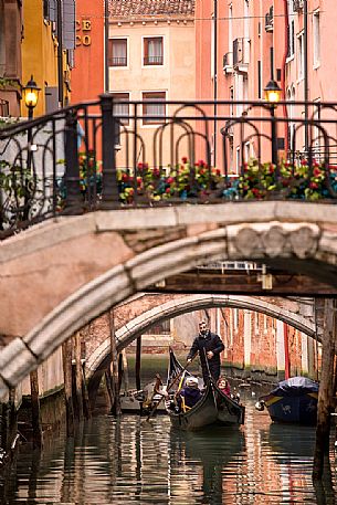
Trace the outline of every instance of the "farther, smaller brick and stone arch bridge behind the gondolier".
{"label": "farther, smaller brick and stone arch bridge behind the gondolier", "polygon": [[[301,299],[213,294],[140,293],[114,308],[117,350],[127,347],[151,325],[192,311],[211,307],[234,307],[256,311],[281,319],[304,334],[316,337],[313,305]],[[319,339],[319,332],[318,339]],[[108,315],[95,319],[84,332],[86,344],[86,376],[105,369],[109,361],[110,336]]]}

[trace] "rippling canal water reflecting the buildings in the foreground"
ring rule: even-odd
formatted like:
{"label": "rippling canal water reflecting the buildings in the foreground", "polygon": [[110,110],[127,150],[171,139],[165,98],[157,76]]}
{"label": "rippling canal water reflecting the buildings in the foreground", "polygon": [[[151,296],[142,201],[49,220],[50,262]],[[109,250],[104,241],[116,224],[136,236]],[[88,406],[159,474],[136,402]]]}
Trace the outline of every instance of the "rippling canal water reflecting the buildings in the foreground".
{"label": "rippling canal water reflecting the buildings in the foreground", "polygon": [[[166,415],[149,422],[98,415],[73,439],[53,433],[43,451],[20,446],[0,481],[1,504],[334,504],[336,465],[312,483],[314,428],[278,425],[242,396],[245,424],[198,433],[171,429]],[[333,442],[333,441],[331,441]]]}

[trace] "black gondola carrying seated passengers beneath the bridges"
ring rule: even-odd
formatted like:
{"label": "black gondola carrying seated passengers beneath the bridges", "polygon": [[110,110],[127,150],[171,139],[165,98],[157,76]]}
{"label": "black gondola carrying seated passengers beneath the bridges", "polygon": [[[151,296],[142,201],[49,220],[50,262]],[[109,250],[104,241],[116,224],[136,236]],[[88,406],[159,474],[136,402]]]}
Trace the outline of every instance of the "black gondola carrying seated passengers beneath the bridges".
{"label": "black gondola carrying seated passengers beneath the bridges", "polygon": [[[183,387],[185,380],[191,374],[183,369],[170,349],[167,389],[171,396],[178,389],[178,385]],[[179,381],[177,380],[179,379]],[[181,381],[181,383],[179,383]],[[175,389],[171,385],[175,383]],[[210,378],[207,388],[198,403],[186,412],[178,412],[172,401],[166,401],[166,410],[170,417],[172,427],[180,430],[193,431],[211,424],[243,424],[244,407],[223,394]]]}

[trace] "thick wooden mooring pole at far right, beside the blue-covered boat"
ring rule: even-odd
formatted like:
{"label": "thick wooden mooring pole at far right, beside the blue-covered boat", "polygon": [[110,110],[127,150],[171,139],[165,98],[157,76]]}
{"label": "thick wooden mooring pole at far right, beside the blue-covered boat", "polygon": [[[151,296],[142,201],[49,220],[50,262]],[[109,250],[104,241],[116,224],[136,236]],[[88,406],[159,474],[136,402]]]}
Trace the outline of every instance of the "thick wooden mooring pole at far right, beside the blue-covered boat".
{"label": "thick wooden mooring pole at far right, beside the blue-covered boat", "polygon": [[324,309],[322,374],[313,467],[314,481],[323,478],[325,463],[329,463],[330,414],[335,409],[336,309],[337,299],[327,298]]}

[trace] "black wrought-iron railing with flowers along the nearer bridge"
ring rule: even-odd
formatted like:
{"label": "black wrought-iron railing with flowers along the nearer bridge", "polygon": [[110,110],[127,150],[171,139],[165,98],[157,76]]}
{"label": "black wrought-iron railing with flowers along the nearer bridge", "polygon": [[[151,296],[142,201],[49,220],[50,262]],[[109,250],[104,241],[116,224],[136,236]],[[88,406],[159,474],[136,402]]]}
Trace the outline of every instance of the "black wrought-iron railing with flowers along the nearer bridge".
{"label": "black wrought-iron railing with flowers along the nearer bridge", "polygon": [[96,209],[336,199],[336,119],[337,104],[327,103],[274,111],[157,97],[115,107],[102,95],[17,123],[0,130],[0,238]]}

